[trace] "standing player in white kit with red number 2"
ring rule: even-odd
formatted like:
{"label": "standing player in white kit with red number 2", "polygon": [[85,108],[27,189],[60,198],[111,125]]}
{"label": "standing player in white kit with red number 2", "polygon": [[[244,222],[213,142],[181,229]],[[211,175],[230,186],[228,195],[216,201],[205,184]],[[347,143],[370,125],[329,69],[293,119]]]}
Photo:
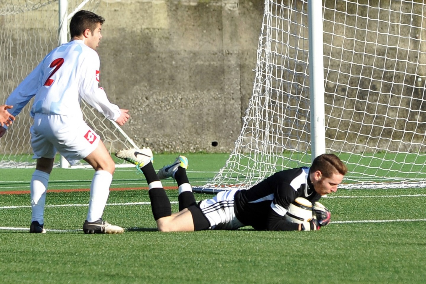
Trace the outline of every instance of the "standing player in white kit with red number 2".
{"label": "standing player in white kit with red number 2", "polygon": [[[14,106],[11,114],[17,115],[34,97],[30,132],[37,164],[30,185],[30,232],[46,232],[44,204],[56,152],[71,165],[83,159],[95,169],[84,233],[124,232],[102,220],[115,163],[99,135],[84,122],[80,108],[83,99],[118,125],[124,125],[130,117],[127,109],[110,103],[104,89],[98,86],[100,62],[96,48],[103,23],[104,18],[93,12],[75,13],[69,25],[69,43],[46,55],[6,100],[6,104]],[[0,135],[3,133],[0,131]]]}

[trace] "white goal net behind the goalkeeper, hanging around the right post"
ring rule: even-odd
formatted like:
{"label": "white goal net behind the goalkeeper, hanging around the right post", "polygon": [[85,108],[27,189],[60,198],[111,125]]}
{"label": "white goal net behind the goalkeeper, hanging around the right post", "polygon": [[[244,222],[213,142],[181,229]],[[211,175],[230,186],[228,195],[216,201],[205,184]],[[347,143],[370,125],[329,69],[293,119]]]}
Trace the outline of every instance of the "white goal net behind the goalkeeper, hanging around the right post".
{"label": "white goal net behind the goalkeeper, hanging around the right post", "polygon": [[[426,6],[325,0],[325,148],[343,188],[425,187]],[[247,188],[311,164],[308,2],[266,0],[253,94],[235,149],[195,191]]]}

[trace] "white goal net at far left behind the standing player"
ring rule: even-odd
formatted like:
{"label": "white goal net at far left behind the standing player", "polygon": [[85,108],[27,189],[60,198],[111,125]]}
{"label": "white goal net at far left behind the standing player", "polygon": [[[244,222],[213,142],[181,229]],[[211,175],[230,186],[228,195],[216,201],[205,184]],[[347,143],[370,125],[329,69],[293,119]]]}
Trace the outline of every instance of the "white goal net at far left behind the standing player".
{"label": "white goal net at far left behind the standing player", "polygon": [[[68,0],[66,26],[76,11],[95,11],[99,0]],[[58,0],[0,1],[0,103],[37,66],[59,41]],[[69,33],[68,33],[69,38]],[[0,167],[33,167],[29,116],[32,100],[0,139]],[[85,121],[99,134],[110,152],[135,147],[114,122],[82,101]],[[59,159],[56,159],[56,163]],[[121,163],[121,161],[116,161]],[[84,166],[84,164],[80,164]]]}

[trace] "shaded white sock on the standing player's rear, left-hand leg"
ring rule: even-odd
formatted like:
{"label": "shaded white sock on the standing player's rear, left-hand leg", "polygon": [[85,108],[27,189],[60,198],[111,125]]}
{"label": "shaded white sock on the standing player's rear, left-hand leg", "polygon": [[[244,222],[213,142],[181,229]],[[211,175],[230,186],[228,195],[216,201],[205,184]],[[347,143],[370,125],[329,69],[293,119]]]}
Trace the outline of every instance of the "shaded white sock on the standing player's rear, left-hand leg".
{"label": "shaded white sock on the standing player's rear, left-hand leg", "polygon": [[44,224],[44,203],[46,201],[47,184],[49,183],[49,174],[35,170],[32,174],[30,184],[31,195],[31,222],[38,221]]}

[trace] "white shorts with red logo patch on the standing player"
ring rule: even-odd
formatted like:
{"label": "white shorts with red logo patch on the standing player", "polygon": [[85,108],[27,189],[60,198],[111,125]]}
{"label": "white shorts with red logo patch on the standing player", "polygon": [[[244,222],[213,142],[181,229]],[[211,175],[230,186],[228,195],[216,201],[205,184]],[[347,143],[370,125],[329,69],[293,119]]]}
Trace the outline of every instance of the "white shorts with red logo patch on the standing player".
{"label": "white shorts with red logo patch on the standing player", "polygon": [[30,128],[34,159],[55,158],[59,152],[74,165],[92,153],[100,137],[81,118],[36,113]]}

